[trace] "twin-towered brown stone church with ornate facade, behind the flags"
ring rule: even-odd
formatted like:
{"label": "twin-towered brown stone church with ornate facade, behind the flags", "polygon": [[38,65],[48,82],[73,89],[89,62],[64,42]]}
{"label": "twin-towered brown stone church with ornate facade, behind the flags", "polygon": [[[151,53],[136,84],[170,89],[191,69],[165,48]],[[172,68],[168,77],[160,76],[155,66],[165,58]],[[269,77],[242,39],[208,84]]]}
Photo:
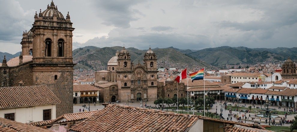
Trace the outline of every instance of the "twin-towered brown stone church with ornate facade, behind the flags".
{"label": "twin-towered brown stone church with ornate facade, behind the flags", "polygon": [[107,63],[107,70],[95,73],[95,86],[100,88],[100,101],[152,101],[159,97],[157,88],[157,56],[149,48],[143,64],[134,64],[123,47]]}

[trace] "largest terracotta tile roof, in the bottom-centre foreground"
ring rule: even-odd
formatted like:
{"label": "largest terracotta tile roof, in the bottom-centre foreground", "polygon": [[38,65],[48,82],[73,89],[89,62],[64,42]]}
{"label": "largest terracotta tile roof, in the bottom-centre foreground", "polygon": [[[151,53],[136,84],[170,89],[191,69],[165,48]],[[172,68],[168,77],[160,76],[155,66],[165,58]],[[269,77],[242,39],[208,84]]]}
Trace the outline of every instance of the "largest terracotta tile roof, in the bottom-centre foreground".
{"label": "largest terracotta tile roof, in the bottom-centre foreground", "polygon": [[70,131],[185,131],[198,116],[119,104],[107,105],[93,116],[70,127]]}

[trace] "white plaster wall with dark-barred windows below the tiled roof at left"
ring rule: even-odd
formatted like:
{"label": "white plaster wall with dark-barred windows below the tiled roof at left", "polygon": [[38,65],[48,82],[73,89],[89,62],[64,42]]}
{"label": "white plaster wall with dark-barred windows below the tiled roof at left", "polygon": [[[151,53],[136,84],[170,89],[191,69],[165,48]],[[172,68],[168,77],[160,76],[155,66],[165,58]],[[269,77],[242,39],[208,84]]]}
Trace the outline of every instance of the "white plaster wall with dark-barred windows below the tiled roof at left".
{"label": "white plaster wall with dark-barred windows below the tiled roof at left", "polygon": [[56,118],[56,105],[42,105],[35,107],[22,107],[13,109],[1,109],[0,116],[4,118],[4,114],[14,113],[15,121],[27,123],[30,121],[43,121],[43,110],[51,109],[51,119]]}

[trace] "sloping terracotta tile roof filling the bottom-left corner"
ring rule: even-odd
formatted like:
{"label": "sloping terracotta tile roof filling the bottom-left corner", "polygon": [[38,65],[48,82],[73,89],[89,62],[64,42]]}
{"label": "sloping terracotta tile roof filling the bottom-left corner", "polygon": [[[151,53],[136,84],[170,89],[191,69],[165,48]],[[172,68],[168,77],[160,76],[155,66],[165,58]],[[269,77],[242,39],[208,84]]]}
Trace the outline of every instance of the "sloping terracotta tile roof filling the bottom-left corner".
{"label": "sloping terracotta tile roof filling the bottom-left corner", "polygon": [[40,127],[0,118],[0,132],[52,132]]}

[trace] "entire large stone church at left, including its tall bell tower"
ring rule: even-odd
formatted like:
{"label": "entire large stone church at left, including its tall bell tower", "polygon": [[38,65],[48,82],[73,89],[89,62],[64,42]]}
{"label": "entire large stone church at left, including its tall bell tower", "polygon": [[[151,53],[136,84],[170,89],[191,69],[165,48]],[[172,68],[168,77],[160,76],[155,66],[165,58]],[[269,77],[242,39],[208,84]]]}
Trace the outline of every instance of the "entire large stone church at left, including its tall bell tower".
{"label": "entire large stone church at left, including its tall bell tower", "polygon": [[52,1],[34,16],[29,32],[23,33],[22,53],[0,67],[1,87],[47,85],[61,104],[56,116],[73,113],[72,22]]}

